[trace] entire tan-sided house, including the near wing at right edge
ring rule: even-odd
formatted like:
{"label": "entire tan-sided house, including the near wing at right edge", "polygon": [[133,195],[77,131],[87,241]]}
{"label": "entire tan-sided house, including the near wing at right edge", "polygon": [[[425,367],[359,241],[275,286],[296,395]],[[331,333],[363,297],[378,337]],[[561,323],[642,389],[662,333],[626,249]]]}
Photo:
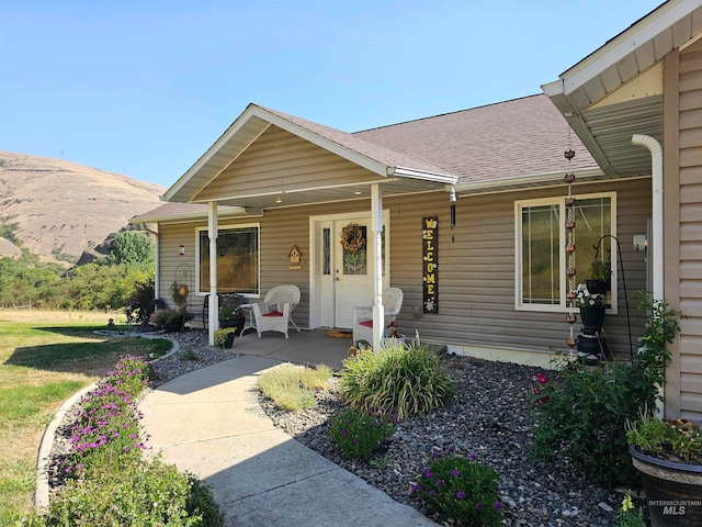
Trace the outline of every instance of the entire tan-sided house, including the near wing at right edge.
{"label": "entire tan-sided house, including the near wing at right edge", "polygon": [[[352,134],[250,104],[168,203],[133,218],[157,224],[158,295],[186,283],[197,310],[210,292],[257,301],[294,283],[298,326],[350,327],[354,305],[382,319],[393,285],[403,333],[545,367],[579,330],[566,322],[570,195],[575,282],[611,259],[611,351],[636,350],[638,292],[684,312],[665,410],[700,419],[700,36],[702,2],[671,0],[543,94]],[[353,253],[341,242],[356,226]]]}

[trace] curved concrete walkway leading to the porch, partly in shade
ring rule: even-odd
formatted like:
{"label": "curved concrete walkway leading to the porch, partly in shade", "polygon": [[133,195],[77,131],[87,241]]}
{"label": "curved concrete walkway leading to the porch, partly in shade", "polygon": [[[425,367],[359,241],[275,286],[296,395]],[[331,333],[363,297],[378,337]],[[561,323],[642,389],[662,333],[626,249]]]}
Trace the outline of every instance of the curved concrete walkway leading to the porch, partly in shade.
{"label": "curved concrete walkway leading to the porch, partly in shade", "polygon": [[273,426],[256,382],[281,360],[264,355],[181,375],[139,405],[148,445],[212,486],[227,526],[437,525]]}

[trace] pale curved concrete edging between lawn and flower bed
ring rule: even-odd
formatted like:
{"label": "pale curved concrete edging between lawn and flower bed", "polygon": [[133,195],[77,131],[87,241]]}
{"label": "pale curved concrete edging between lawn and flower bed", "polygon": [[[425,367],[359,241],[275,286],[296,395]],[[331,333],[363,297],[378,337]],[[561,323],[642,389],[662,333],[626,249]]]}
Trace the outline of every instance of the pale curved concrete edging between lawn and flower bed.
{"label": "pale curved concrete edging between lawn and flower bed", "polygon": [[[95,333],[104,336],[106,332],[95,332]],[[166,354],[163,357],[159,357],[158,359],[155,359],[154,362],[158,362],[161,359],[170,357],[171,355],[176,354],[180,349],[180,344],[178,343],[178,340],[167,337],[166,335],[143,335],[143,334],[135,334],[135,333],[121,333],[115,335],[115,333],[116,332],[110,332],[110,335],[107,336],[163,338],[166,340],[170,340],[171,341],[170,351]],[[36,490],[34,491],[34,506],[36,508],[43,509],[43,508],[47,508],[49,505],[48,468],[49,468],[49,462],[52,457],[52,450],[54,449],[54,437],[55,437],[56,430],[58,429],[60,424],[64,422],[64,418],[66,417],[66,413],[78,401],[80,401],[80,399],[83,395],[90,393],[95,388],[98,388],[99,382],[100,381],[95,381],[92,384],[89,384],[88,386],[81,389],[80,391],[76,392],[73,395],[68,397],[66,401],[64,401],[64,403],[54,414],[54,418],[44,430],[44,435],[42,436],[42,441],[39,442],[39,449],[36,457],[37,478],[36,478]]]}

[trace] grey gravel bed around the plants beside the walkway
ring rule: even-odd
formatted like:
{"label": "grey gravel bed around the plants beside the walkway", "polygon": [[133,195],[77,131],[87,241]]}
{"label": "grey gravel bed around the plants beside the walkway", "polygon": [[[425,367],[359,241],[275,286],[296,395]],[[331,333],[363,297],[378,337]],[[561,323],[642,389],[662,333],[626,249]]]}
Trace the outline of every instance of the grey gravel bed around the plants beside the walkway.
{"label": "grey gravel bed around the plants beside the walkway", "polygon": [[[179,340],[181,349],[156,362],[159,380],[155,385],[238,355],[210,348],[203,332],[169,336]],[[465,456],[475,453],[477,461],[499,473],[503,525],[613,525],[620,494],[586,480],[567,461],[533,464],[526,457],[530,417],[525,399],[531,378],[541,370],[468,357],[445,356],[442,360],[456,382],[455,396],[428,415],[400,422],[389,448],[369,462],[344,459],[327,431],[330,421],[346,408],[339,397],[338,379],[331,389],[317,392],[315,408],[301,413],[281,412],[263,396],[259,401],[275,426],[439,524],[453,525],[431,515],[410,489],[418,470],[432,456],[453,447]],[[61,426],[66,428],[70,425]],[[55,441],[56,459],[60,459],[61,446],[65,441],[59,438]]]}

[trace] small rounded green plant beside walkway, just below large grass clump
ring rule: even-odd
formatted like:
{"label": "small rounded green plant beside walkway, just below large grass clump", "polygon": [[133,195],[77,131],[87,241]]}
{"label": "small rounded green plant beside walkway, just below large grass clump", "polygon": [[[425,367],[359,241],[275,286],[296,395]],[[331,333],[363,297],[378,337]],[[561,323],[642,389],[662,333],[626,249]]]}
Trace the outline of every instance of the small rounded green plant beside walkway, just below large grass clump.
{"label": "small rounded green plant beside walkway, just below large grass clump", "polygon": [[387,415],[348,408],[329,427],[329,435],[349,459],[370,459],[395,434],[396,421]]}

